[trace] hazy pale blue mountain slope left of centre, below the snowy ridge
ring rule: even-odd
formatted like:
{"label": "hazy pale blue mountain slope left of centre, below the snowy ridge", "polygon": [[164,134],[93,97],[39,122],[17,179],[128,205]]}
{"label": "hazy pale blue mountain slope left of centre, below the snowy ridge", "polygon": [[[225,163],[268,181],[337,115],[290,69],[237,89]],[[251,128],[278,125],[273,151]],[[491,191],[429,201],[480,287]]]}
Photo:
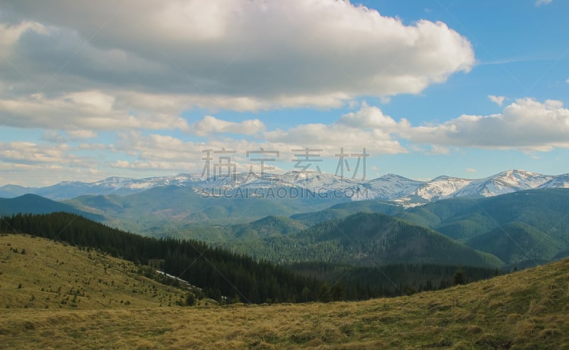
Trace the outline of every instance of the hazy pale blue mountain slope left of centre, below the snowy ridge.
{"label": "hazy pale blue mountain slope left of centre, below the snowy ridge", "polygon": [[[235,194],[235,193],[233,193]],[[64,201],[105,216],[106,223],[125,230],[164,234],[201,226],[255,221],[266,216],[290,216],[324,209],[334,201],[314,198],[243,198],[203,196],[186,186],[161,186],[129,196],[81,196]]]}

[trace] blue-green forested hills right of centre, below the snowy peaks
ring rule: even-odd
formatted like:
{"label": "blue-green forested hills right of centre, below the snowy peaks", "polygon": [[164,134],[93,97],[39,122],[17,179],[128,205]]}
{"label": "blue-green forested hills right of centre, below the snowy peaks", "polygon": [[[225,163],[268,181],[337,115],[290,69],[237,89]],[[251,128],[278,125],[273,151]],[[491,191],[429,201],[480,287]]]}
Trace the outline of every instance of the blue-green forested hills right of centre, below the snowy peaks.
{"label": "blue-green forested hills right of centre, below the snowy peaks", "polygon": [[187,228],[179,234],[275,263],[452,261],[507,269],[568,256],[568,211],[569,189],[532,189],[413,208],[385,201],[346,202],[289,218]]}

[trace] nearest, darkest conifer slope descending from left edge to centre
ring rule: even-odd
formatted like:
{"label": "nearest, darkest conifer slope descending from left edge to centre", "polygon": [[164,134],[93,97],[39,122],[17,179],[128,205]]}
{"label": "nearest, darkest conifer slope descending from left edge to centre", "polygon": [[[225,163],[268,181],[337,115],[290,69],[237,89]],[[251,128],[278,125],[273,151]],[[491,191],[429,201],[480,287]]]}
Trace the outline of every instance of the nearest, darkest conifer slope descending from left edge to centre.
{"label": "nearest, darkest conifer slope descending from left edge to centre", "polygon": [[[195,240],[149,238],[126,233],[71,213],[17,214],[0,218],[0,232],[28,233],[105,251],[134,263],[164,259],[164,271],[203,287],[213,299],[243,302],[300,302],[321,299],[326,285],[266,262],[230,253]],[[345,293],[336,287],[336,297]],[[320,295],[319,295],[320,293]],[[334,295],[326,295],[334,299]]]}

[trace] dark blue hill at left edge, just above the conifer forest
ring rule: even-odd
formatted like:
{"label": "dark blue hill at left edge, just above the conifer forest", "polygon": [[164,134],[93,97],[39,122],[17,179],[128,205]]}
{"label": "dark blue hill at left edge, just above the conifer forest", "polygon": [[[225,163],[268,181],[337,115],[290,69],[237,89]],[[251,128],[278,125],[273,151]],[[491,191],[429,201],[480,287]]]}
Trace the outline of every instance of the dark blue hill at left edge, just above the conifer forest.
{"label": "dark blue hill at left edge, just above the conifer forest", "polygon": [[35,194],[24,194],[16,198],[0,198],[0,216],[9,216],[16,213],[55,213],[58,211],[75,213],[95,221],[103,219],[102,216],[80,211],[73,206],[36,196]]}

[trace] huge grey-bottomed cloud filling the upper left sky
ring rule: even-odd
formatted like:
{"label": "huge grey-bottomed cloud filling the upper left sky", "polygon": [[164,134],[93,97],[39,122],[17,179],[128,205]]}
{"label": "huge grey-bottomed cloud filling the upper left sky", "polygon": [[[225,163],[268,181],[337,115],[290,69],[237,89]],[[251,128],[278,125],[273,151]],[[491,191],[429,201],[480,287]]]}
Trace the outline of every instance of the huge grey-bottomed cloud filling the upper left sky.
{"label": "huge grey-bottomed cloud filling the upper left sky", "polygon": [[[87,90],[116,98],[91,100],[98,108],[124,102],[119,92],[165,95],[176,111],[339,107],[362,95],[417,94],[475,62],[469,41],[445,23],[405,25],[349,1],[0,0],[0,7],[10,21],[0,23],[0,46],[17,63],[0,63],[14,85],[0,95],[5,105],[39,94],[36,103],[49,109]],[[69,121],[82,128],[76,115]]]}

